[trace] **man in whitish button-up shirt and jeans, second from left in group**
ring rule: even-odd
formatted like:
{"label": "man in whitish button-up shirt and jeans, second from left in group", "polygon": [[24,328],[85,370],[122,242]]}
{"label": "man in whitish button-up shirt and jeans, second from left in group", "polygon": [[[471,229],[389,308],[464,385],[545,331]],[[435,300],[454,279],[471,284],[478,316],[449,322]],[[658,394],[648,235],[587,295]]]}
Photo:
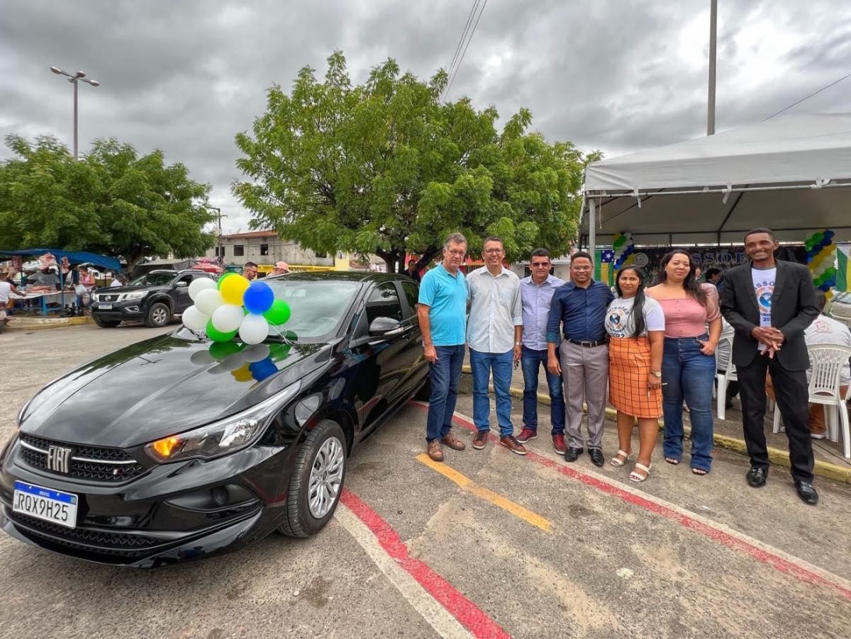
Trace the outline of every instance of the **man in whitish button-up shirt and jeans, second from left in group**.
{"label": "man in whitish button-up shirt and jeans, second from left in group", "polygon": [[488,237],[482,252],[485,265],[467,276],[470,291],[467,345],[473,371],[473,423],[478,430],[473,448],[482,450],[488,442],[488,379],[493,372],[500,444],[517,455],[526,455],[523,444],[514,438],[511,425],[511,364],[520,361],[523,346],[520,278],[502,265],[504,255],[502,240]]}

